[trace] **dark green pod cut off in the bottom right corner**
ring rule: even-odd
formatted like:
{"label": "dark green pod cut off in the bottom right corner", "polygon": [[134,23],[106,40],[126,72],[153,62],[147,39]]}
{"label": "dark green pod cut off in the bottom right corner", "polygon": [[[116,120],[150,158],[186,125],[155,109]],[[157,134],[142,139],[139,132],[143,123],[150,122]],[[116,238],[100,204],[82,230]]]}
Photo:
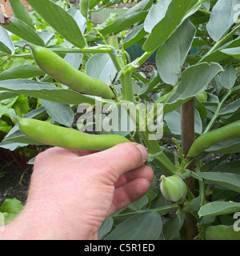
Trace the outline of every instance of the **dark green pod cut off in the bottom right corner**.
{"label": "dark green pod cut off in the bottom right corner", "polygon": [[235,231],[234,226],[210,226],[206,229],[205,240],[240,240],[240,231]]}

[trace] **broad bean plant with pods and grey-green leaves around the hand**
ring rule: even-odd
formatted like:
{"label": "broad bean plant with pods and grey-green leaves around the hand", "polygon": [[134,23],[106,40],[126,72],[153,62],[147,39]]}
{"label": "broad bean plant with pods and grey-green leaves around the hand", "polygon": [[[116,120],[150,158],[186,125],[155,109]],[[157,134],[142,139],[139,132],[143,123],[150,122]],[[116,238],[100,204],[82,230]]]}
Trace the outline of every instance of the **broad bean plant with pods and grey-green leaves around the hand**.
{"label": "broad bean plant with pods and grey-green leaves around the hand", "polygon": [[[31,63],[2,70],[0,100],[39,104],[23,117],[0,111],[14,122],[0,146],[142,143],[150,190],[106,218],[98,239],[239,240],[238,1],[142,0],[101,24],[93,15],[118,0],[26,2],[33,12],[10,1],[0,50],[5,62]],[[147,77],[141,67],[152,57]]]}

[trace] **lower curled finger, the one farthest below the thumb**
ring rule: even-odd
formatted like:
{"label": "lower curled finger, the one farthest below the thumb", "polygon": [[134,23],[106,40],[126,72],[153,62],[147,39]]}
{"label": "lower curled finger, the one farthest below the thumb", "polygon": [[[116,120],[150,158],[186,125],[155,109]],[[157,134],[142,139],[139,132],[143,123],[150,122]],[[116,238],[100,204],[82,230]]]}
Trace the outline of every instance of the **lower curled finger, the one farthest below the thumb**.
{"label": "lower curled finger, the one farthest below the thumb", "polygon": [[149,188],[150,182],[146,178],[137,178],[118,187],[114,192],[114,200],[110,207],[109,215],[129,205],[130,202],[142,198]]}

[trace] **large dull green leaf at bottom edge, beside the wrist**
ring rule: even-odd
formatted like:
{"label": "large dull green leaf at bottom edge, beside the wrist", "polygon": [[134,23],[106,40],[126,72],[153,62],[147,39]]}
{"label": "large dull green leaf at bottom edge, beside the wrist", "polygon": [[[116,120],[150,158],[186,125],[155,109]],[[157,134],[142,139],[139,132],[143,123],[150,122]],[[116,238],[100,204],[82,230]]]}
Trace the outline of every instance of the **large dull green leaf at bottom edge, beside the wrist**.
{"label": "large dull green leaf at bottom edge, beside the wrist", "polygon": [[158,213],[135,214],[119,224],[105,240],[157,240],[162,232],[162,218]]}

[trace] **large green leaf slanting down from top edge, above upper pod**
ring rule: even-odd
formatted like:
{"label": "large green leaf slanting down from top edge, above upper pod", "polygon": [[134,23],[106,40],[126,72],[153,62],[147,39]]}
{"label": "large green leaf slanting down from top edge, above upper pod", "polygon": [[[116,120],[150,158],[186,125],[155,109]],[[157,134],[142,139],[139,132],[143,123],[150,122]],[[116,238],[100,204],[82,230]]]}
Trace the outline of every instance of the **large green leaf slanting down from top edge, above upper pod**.
{"label": "large green leaf slanting down from top edge, above upper pod", "polygon": [[27,2],[56,30],[74,46],[83,48],[85,40],[77,22],[70,14],[50,0],[27,0]]}

